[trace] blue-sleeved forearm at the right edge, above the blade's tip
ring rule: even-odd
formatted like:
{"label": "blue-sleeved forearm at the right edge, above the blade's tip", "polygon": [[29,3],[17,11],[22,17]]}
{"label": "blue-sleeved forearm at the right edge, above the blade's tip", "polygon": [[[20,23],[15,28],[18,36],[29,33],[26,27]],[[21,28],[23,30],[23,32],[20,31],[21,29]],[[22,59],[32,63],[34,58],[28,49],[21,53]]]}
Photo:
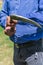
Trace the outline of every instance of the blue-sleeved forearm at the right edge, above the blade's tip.
{"label": "blue-sleeved forearm at the right edge, above the blade's tip", "polygon": [[33,12],[30,14],[31,19],[43,25],[43,14],[41,12]]}

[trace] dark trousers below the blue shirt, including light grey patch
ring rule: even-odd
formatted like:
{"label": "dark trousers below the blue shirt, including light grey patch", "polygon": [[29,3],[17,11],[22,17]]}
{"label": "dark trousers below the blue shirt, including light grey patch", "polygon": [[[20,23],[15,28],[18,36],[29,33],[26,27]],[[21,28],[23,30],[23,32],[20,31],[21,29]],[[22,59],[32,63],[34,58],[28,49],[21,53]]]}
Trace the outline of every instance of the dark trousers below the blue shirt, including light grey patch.
{"label": "dark trousers below the blue shirt, including light grey patch", "polygon": [[42,39],[28,42],[28,44],[31,43],[35,45],[23,48],[17,48],[14,44],[14,65],[43,65]]}

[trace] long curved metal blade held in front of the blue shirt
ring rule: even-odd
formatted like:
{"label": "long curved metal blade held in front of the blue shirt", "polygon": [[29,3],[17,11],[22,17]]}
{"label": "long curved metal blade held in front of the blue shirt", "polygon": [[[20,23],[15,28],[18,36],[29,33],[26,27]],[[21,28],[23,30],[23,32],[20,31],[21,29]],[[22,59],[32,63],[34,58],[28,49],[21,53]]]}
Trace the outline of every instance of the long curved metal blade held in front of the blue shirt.
{"label": "long curved metal blade held in front of the blue shirt", "polygon": [[33,21],[33,20],[29,19],[29,18],[19,16],[19,15],[11,15],[10,17],[11,17],[11,19],[22,20],[23,22],[29,22],[31,24],[36,25],[39,28],[42,28],[42,26],[39,23],[37,23],[36,21]]}

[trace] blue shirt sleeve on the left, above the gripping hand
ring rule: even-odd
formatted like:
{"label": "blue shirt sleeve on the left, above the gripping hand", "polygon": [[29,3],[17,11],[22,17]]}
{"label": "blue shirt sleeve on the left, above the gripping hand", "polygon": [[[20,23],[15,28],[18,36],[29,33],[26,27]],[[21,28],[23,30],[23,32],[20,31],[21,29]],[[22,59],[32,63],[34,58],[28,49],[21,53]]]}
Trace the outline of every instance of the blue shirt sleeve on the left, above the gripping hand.
{"label": "blue shirt sleeve on the left, above the gripping hand", "polygon": [[6,17],[8,16],[8,3],[7,0],[3,0],[2,10],[1,10],[1,22],[0,25],[5,28],[6,26]]}

